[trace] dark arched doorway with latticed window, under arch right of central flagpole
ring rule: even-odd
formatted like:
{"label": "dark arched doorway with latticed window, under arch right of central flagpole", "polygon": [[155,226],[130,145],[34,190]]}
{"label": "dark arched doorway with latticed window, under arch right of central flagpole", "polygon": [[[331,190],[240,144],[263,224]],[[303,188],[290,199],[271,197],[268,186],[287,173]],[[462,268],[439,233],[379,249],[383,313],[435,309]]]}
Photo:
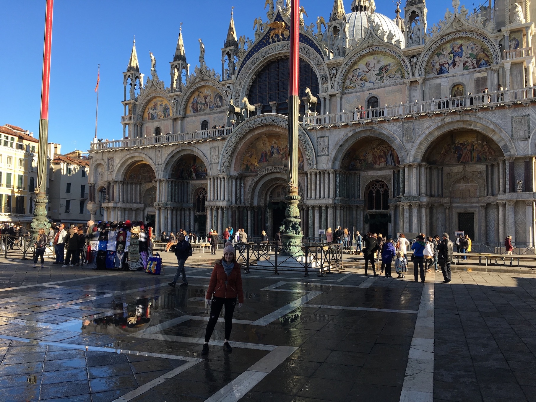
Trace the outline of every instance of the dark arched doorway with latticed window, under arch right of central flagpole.
{"label": "dark arched doorway with latticed window, under arch right of central flagpole", "polygon": [[367,185],[365,195],[369,232],[382,233],[384,236],[392,235],[389,233],[391,215],[388,185],[382,180],[374,180]]}

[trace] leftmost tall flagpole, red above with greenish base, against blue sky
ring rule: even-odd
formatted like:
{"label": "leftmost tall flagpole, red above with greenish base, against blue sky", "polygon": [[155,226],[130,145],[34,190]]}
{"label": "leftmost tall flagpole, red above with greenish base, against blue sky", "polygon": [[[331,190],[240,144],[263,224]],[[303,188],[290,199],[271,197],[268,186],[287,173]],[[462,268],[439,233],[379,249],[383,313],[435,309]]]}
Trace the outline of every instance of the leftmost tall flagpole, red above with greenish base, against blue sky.
{"label": "leftmost tall flagpole, red above with greenish base, against blue sky", "polygon": [[43,76],[41,85],[41,116],[39,120],[39,145],[37,162],[37,185],[35,187],[35,208],[33,211],[32,234],[39,229],[46,232],[50,228],[47,218],[47,143],[48,143],[48,96],[50,90],[50,53],[52,47],[52,16],[54,0],[47,0],[44,18]]}

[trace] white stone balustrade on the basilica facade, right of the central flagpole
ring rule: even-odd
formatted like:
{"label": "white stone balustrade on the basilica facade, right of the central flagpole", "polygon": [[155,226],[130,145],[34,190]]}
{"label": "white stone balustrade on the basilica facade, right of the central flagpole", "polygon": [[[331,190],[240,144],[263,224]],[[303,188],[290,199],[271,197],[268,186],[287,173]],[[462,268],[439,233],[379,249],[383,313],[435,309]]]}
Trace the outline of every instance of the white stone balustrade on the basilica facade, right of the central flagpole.
{"label": "white stone balustrade on the basilica facade, right of the central flagpole", "polygon": [[461,113],[464,110],[478,110],[495,108],[498,106],[511,106],[536,102],[536,86],[520,90],[496,91],[456,98],[432,99],[424,102],[400,103],[370,109],[354,109],[342,113],[306,116],[303,117],[304,128],[331,128],[332,126],[352,125],[354,123],[377,123],[380,121],[397,120],[419,116],[434,116],[452,112]]}

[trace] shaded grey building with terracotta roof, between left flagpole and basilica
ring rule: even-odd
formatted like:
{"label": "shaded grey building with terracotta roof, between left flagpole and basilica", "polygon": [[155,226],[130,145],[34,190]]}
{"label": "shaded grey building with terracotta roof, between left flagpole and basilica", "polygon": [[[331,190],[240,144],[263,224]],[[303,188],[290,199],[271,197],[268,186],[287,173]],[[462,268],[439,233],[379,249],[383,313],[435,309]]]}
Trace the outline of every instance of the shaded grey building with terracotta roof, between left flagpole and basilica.
{"label": "shaded grey building with terracotta roof, between left flagpole and basilica", "polygon": [[61,145],[47,146],[50,168],[48,174],[48,217],[66,226],[85,224],[90,219],[87,210],[89,159],[81,151],[61,154]]}

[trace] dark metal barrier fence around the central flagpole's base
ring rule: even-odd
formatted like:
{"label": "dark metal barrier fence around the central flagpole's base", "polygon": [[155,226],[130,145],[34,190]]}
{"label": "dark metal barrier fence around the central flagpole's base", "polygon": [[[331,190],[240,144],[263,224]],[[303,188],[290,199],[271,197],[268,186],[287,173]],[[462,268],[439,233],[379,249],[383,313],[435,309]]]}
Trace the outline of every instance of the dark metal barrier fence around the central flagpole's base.
{"label": "dark metal barrier fence around the central flagpole's base", "polygon": [[343,268],[343,245],[318,242],[302,242],[300,251],[293,256],[281,255],[281,246],[274,243],[234,243],[236,260],[244,265],[244,272],[250,270],[303,272],[308,277],[309,271],[318,272],[319,277]]}

